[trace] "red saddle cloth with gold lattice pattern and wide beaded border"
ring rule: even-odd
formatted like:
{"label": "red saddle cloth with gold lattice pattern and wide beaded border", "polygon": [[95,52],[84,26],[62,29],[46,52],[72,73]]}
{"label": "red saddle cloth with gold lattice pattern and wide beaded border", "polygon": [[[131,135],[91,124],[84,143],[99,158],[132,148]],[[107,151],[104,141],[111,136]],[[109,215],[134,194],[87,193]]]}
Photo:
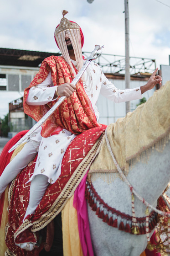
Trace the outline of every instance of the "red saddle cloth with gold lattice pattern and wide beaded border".
{"label": "red saddle cloth with gold lattice pattern and wide beaded border", "polygon": [[[26,184],[26,182],[33,174],[37,156],[18,174],[10,187],[9,222],[5,239],[8,247],[7,255],[39,255],[43,244],[33,251],[26,251],[15,243],[36,242],[39,237],[39,230],[50,223],[62,210],[87,173],[99,145],[94,146],[94,144],[99,138],[100,141],[102,140],[101,135],[105,129],[106,126],[102,125],[77,135],[63,157],[60,177],[54,184],[47,187],[35,214],[28,215],[24,223],[22,221],[28,206],[30,191],[30,183]],[[85,156],[87,157],[85,158]]]}

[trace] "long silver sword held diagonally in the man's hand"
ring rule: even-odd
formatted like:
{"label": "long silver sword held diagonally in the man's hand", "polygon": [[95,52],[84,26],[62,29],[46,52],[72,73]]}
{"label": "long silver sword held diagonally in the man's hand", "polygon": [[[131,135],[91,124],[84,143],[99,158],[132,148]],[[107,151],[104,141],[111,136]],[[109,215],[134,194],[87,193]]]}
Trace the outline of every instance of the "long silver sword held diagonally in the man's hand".
{"label": "long silver sword held diagonally in the man's hand", "polygon": [[[77,76],[72,80],[72,84],[76,85],[78,80],[81,78],[84,71],[87,69],[90,62],[94,59],[97,59],[101,53],[104,46],[100,47],[99,45],[95,45],[94,50],[91,52],[90,56],[86,59],[84,62],[82,68],[77,73]],[[101,50],[100,53],[97,53],[99,50]],[[39,128],[48,117],[50,117],[54,111],[62,104],[62,101],[66,99],[66,96],[61,96],[60,99],[54,104],[54,106],[14,145],[10,148],[8,151],[9,153],[12,152],[14,149],[16,149],[21,143],[23,143],[24,140],[28,139],[32,133],[36,131],[37,128]]]}

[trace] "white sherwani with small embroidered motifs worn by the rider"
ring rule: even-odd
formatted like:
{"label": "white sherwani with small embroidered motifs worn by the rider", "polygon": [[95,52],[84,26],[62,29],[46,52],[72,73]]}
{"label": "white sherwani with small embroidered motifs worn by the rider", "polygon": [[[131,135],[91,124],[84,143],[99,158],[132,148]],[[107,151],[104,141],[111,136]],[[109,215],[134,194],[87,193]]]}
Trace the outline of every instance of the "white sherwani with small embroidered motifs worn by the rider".
{"label": "white sherwani with small embroidered motifs worn by the rider", "polygon": [[[72,60],[72,63],[76,66],[75,61]],[[97,121],[99,119],[99,112],[96,103],[100,93],[109,100],[118,103],[142,98],[140,87],[118,90],[106,78],[96,63],[91,62],[84,74],[84,89],[92,103]],[[31,87],[26,103],[28,105],[44,105],[52,101],[55,91],[56,86],[52,83],[50,72],[46,80],[44,80],[40,85]],[[66,151],[68,144],[76,135],[66,129],[63,129],[60,134],[52,135],[48,138],[41,137],[40,133],[41,128],[39,128],[36,131],[36,135],[30,139],[36,150],[39,151],[35,171],[30,181],[37,174],[43,174],[48,176],[49,183],[54,183],[61,174],[61,162],[64,152]]]}

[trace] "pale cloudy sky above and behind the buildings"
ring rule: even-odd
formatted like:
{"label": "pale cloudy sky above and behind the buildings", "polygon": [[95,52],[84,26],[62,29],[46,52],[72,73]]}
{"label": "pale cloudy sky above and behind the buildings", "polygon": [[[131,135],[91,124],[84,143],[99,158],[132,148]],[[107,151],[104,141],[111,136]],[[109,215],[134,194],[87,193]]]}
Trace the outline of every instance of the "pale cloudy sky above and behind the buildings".
{"label": "pale cloudy sky above and behind the buildings", "polygon": [[[125,55],[124,0],[5,0],[0,5],[0,48],[57,53],[54,30],[62,10],[82,28],[83,51],[99,44],[103,53]],[[155,59],[158,68],[169,65],[170,0],[129,0],[129,37],[130,56]],[[0,117],[8,112],[7,101],[20,96],[0,91],[5,102]]]}

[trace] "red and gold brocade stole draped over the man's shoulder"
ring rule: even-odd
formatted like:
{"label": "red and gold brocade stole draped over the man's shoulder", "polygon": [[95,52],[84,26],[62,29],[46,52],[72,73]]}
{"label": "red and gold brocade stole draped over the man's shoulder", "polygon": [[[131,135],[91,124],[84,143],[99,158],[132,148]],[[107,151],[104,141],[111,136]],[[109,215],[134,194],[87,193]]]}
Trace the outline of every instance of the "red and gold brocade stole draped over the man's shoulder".
{"label": "red and gold brocade stole draped over the man's shoulder", "polygon": [[[29,89],[42,83],[50,70],[54,86],[67,82],[71,83],[74,79],[72,69],[62,57],[51,56],[42,62],[39,72],[24,91],[24,112],[36,121],[39,121],[59,99],[58,97],[56,101],[51,101],[48,105],[42,106],[31,106],[26,103]],[[77,82],[76,91],[66,98],[54,114],[43,124],[41,135],[48,137],[59,126],[74,134],[100,126],[96,121],[91,101],[84,91],[81,79]]]}

